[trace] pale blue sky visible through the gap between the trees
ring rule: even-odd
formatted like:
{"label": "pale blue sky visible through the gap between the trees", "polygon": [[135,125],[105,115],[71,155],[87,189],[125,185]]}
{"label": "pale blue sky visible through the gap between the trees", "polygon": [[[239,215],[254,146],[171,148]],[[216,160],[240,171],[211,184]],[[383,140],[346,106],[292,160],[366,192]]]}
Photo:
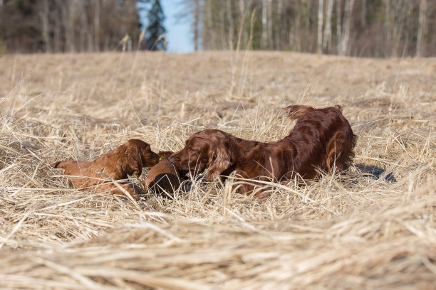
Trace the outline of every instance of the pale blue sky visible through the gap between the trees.
{"label": "pale blue sky visible through the gap between the trees", "polygon": [[[189,18],[180,18],[183,11],[182,0],[160,0],[165,14],[165,28],[167,28],[167,51],[170,53],[190,53],[194,51],[192,31]],[[141,15],[144,17],[145,15]]]}

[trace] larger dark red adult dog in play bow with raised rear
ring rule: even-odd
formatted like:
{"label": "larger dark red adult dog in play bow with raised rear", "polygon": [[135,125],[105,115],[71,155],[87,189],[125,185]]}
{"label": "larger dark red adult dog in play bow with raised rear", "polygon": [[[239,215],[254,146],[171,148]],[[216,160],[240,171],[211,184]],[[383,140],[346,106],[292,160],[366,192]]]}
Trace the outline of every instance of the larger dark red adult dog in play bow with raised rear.
{"label": "larger dark red adult dog in play bow with raised rear", "polygon": [[[341,107],[293,105],[285,110],[289,118],[298,120],[284,139],[263,143],[208,129],[190,136],[185,148],[169,160],[188,176],[207,168],[207,178],[237,171],[238,176],[263,181],[286,180],[296,173],[316,178],[318,168],[331,173],[333,166],[339,171],[350,166],[355,135]],[[239,192],[251,190],[253,186],[242,186]]]}

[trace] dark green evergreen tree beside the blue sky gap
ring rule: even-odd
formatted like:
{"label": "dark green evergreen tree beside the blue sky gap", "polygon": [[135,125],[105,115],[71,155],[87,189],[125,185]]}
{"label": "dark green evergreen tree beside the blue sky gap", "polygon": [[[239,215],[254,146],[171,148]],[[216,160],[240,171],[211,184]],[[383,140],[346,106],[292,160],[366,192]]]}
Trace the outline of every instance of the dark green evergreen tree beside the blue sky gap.
{"label": "dark green evergreen tree beside the blue sky gap", "polygon": [[163,22],[165,14],[160,5],[160,0],[154,0],[147,14],[148,26],[145,31],[145,48],[147,50],[166,50],[166,38]]}

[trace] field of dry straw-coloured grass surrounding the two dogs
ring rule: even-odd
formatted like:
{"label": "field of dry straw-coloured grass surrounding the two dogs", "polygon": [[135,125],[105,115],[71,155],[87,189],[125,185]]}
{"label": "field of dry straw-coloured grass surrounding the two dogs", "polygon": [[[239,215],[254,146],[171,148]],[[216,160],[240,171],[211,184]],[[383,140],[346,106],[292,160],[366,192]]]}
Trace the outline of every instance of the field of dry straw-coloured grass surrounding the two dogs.
{"label": "field of dry straw-coloured grass surrounding the two dogs", "polygon": [[[0,56],[0,288],[434,289],[435,75],[435,58]],[[273,141],[299,103],[344,107],[347,174],[265,200],[199,181],[133,203],[42,169],[130,138],[177,150],[207,128]]]}

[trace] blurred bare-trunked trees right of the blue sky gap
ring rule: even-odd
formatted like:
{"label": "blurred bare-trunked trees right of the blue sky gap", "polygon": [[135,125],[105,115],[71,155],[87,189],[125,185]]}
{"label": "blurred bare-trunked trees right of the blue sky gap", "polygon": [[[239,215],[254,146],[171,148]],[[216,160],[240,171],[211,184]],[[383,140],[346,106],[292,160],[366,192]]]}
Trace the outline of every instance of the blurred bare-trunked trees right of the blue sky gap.
{"label": "blurred bare-trunked trees right of the blue sky gap", "polygon": [[436,0],[185,0],[197,49],[436,53]]}

